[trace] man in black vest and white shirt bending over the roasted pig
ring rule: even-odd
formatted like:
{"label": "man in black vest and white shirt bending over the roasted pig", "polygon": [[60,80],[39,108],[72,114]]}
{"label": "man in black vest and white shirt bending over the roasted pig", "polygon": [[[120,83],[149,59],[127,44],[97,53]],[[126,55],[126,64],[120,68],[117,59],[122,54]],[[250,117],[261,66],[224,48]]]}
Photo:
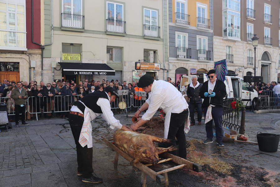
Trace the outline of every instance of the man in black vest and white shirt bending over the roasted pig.
{"label": "man in black vest and white shirt bending over the roasted pig", "polygon": [[99,183],[102,179],[92,175],[92,127],[91,121],[101,115],[110,124],[111,129],[129,130],[119,120],[114,118],[111,104],[119,97],[113,88],[105,91],[86,94],[85,97],[73,103],[69,112],[69,123],[76,143],[78,176],[87,183]]}

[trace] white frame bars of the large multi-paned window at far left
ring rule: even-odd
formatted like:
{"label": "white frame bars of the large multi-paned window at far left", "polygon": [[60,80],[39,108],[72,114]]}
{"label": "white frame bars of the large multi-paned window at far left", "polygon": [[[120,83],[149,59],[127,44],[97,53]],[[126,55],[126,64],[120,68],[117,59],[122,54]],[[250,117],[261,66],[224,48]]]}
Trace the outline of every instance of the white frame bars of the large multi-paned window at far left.
{"label": "white frame bars of the large multi-paned window at far left", "polygon": [[[0,29],[0,31],[6,31],[7,32],[7,46],[0,46],[0,50],[27,50],[26,48],[26,2],[24,1],[24,4],[21,3],[13,3],[13,2],[2,2],[6,4],[6,11],[5,10],[0,10],[0,12],[5,12],[6,13],[6,29]],[[13,4],[16,6],[16,11],[8,11],[8,4]],[[17,5],[21,5],[24,8],[24,12],[17,12]],[[15,30],[9,30],[9,13],[14,13],[15,14]],[[24,31],[17,31],[17,14],[23,14],[24,15]],[[15,32],[16,33],[16,47],[10,47],[9,46],[9,32]],[[24,47],[17,47],[18,45],[18,37],[17,33],[24,33]]]}

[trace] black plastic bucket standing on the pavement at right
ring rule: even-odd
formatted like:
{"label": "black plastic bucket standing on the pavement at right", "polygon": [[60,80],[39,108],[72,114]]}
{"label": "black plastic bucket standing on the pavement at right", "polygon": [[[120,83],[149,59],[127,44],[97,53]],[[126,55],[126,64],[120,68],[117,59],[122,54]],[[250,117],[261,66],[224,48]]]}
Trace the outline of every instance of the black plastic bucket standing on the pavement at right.
{"label": "black plastic bucket standing on the pavement at right", "polygon": [[259,150],[264,152],[276,152],[278,149],[279,138],[279,134],[258,132],[257,140],[259,144]]}

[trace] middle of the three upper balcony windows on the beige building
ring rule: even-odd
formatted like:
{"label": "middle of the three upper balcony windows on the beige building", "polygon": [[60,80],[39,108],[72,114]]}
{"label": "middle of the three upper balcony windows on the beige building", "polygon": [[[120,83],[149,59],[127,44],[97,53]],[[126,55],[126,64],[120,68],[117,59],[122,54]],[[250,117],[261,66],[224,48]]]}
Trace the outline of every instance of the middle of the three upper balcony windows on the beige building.
{"label": "middle of the three upper balcony windows on the beige building", "polygon": [[107,31],[124,33],[124,5],[107,1]]}

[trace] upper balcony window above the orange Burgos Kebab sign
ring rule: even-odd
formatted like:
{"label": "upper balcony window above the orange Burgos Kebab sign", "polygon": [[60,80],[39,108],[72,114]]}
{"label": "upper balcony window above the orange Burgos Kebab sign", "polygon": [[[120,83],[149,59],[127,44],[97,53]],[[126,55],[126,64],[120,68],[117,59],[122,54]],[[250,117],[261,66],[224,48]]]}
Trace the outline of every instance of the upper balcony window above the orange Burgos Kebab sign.
{"label": "upper balcony window above the orange Burgos Kebab sign", "polygon": [[144,36],[160,37],[156,10],[144,8]]}

